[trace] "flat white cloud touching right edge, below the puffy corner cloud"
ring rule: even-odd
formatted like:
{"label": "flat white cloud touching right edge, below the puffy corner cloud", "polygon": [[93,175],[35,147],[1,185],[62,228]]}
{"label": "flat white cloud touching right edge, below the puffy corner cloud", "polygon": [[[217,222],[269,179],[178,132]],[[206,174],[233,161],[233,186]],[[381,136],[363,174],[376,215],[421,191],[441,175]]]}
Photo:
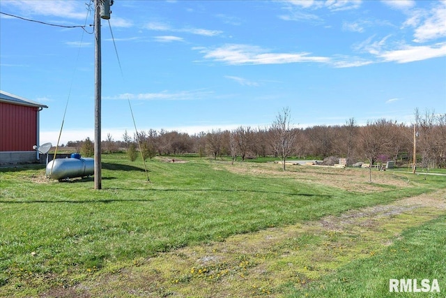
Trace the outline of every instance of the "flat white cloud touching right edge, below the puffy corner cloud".
{"label": "flat white cloud touching right edge, below the puffy corner cloud", "polygon": [[396,61],[397,63],[443,57],[446,56],[446,43],[423,46],[405,45],[399,50],[380,52],[377,56],[384,59],[384,61]]}

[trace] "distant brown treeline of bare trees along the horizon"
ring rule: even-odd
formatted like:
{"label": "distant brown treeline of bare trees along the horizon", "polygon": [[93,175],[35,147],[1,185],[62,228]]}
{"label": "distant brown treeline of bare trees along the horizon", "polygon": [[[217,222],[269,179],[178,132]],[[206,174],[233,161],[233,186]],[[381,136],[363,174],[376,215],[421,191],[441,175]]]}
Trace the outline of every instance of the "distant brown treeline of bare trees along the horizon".
{"label": "distant brown treeline of bare trees along the horizon", "polygon": [[[282,159],[290,156],[320,159],[337,156],[347,158],[348,164],[357,161],[410,163],[413,161],[415,136],[417,164],[421,167],[446,167],[446,114],[426,112],[420,115],[416,110],[415,130],[415,125],[387,119],[358,126],[353,118],[341,126],[293,128],[289,119],[289,110],[284,109],[266,128],[240,126],[232,131],[216,129],[194,135],[153,129],[130,135],[125,131],[123,141],[114,141],[112,135],[107,135],[101,147],[104,153],[140,151],[141,148],[144,158],[178,154],[213,158],[232,156],[233,160],[259,156]],[[93,155],[93,142],[88,138],[68,142],[66,146],[75,147],[83,155]]]}

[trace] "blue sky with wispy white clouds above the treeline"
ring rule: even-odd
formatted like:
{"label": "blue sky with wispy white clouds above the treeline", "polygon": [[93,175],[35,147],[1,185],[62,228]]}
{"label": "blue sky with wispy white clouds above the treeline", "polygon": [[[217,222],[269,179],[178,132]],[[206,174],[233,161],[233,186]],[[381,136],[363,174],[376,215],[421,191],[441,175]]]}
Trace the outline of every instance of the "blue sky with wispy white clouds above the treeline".
{"label": "blue sky with wispy white clouds above the treeline", "polygon": [[[48,105],[40,143],[93,139],[87,0],[1,0],[0,89]],[[112,41],[116,42],[122,73]],[[130,1],[102,20],[102,140],[154,128],[413,122],[446,112],[446,1]]]}

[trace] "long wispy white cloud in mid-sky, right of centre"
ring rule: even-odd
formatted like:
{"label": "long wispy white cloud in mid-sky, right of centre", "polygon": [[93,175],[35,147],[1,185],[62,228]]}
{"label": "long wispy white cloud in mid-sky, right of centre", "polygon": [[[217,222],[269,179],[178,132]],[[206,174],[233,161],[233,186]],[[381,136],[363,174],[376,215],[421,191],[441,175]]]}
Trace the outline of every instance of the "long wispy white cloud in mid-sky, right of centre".
{"label": "long wispy white cloud in mid-sky, right of centre", "polygon": [[270,53],[252,45],[224,45],[216,49],[203,49],[206,59],[222,61],[230,65],[240,64],[289,64],[298,62],[328,62],[327,57],[309,56],[310,53]]}

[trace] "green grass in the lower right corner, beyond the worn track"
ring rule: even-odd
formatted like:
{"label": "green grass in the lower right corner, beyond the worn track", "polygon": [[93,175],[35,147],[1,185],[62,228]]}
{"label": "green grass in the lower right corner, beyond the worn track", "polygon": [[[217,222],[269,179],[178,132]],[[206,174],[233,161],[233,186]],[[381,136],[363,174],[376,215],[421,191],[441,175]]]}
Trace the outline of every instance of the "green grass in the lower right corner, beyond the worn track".
{"label": "green grass in the lower right corner, beyond the worn track", "polygon": [[[370,258],[353,260],[289,297],[445,297],[446,216],[403,232],[401,239]],[[440,292],[390,292],[392,279],[438,281]],[[399,289],[399,288],[398,288]]]}

